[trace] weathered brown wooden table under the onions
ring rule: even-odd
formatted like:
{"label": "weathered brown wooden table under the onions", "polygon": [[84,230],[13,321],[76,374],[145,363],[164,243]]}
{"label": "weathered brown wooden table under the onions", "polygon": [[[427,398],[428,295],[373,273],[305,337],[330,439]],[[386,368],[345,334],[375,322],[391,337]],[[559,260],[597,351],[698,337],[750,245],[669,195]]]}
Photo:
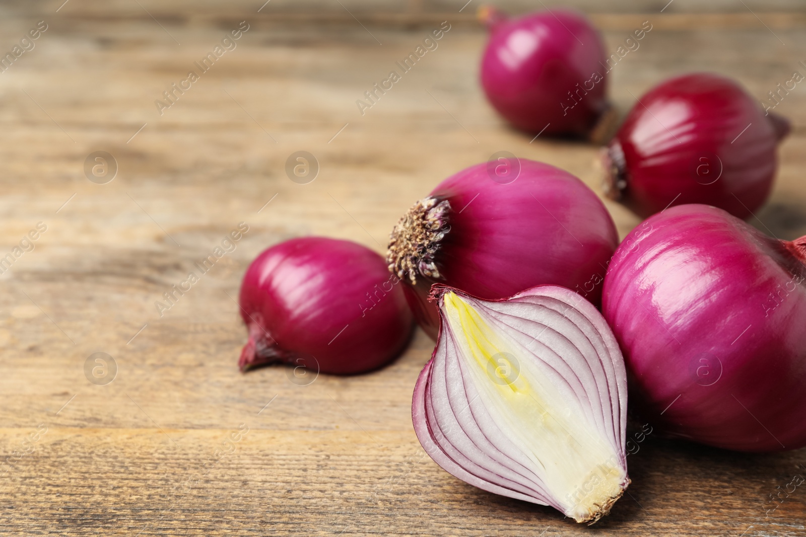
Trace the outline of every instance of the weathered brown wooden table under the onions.
{"label": "weathered brown wooden table under the onions", "polygon": [[[2,50],[48,24],[0,73],[0,257],[47,225],[0,275],[0,453],[13,463],[0,470],[0,534],[806,535],[803,487],[766,512],[776,486],[806,475],[804,450],[746,455],[650,436],[629,456],[629,495],[590,528],[456,480],[413,434],[411,390],[432,349],[422,332],[374,374],[239,373],[234,298],[267,246],[323,234],[383,252],[414,200],[501,150],[600,192],[595,147],[530,143],[486,104],[475,6],[62,1],[0,7]],[[680,72],[725,73],[759,99],[804,72],[795,2],[702,14],[678,0],[660,14],[665,3],[578,2],[599,10],[613,50],[654,25],[612,72],[622,110]],[[444,19],[439,48],[359,114],[355,100]],[[155,100],[242,20],[237,48],[160,115]],[[795,238],[806,234],[804,89],[777,111],[795,128],[758,217]],[[118,165],[106,184],[85,176],[95,151]],[[294,151],[315,155],[316,180],[289,180]],[[622,236],[638,223],[607,206]],[[160,317],[164,291],[242,221],[237,249]],[[89,382],[93,353],[114,358],[113,382],[102,370]]]}

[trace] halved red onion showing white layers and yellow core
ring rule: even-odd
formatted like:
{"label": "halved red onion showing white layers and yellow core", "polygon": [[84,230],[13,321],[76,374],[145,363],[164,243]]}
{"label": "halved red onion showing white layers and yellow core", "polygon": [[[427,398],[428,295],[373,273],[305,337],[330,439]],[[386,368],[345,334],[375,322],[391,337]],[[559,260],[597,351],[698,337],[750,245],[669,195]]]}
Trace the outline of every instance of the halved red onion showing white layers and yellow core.
{"label": "halved red onion showing white layers and yellow core", "polygon": [[495,494],[577,522],[629,485],[627,379],[616,338],[564,287],[486,301],[434,286],[439,339],[414,388],[414,432],[434,461]]}

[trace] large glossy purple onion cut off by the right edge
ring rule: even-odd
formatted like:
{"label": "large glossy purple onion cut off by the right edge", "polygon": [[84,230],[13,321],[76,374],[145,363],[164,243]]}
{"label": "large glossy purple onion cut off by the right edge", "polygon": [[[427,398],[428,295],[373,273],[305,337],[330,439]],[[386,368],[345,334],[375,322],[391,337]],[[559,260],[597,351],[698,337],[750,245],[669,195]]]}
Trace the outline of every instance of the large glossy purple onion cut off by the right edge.
{"label": "large glossy purple onion cut off by the right edge", "polygon": [[669,436],[746,452],[806,445],[806,238],[672,207],[610,262],[602,312],[631,407]]}

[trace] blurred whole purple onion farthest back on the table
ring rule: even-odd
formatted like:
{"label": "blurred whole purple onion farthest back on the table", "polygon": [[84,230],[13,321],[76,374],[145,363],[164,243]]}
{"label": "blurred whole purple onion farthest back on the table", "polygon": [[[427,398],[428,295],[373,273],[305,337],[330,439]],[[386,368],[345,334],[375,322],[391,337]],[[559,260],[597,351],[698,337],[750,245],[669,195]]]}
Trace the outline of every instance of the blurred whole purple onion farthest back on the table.
{"label": "blurred whole purple onion farthest back on the table", "polygon": [[[492,106],[527,132],[545,128],[543,134],[588,134],[609,106],[605,46],[599,32],[572,10],[506,19],[487,9],[482,17],[490,39],[480,78]],[[601,80],[588,82],[595,72]]]}

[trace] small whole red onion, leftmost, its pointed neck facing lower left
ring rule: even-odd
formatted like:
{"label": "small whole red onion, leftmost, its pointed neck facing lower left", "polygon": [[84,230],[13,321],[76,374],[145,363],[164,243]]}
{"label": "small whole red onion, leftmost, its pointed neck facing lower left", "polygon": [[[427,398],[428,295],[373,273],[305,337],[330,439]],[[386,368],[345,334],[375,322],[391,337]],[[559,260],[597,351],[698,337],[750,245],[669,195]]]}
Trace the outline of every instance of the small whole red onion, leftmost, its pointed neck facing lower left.
{"label": "small whole red onion, leftmost, its pointed neck facing lower left", "polygon": [[240,306],[249,341],[241,370],[274,362],[332,374],[374,370],[397,356],[412,317],[400,280],[355,242],[280,242],[251,263]]}

